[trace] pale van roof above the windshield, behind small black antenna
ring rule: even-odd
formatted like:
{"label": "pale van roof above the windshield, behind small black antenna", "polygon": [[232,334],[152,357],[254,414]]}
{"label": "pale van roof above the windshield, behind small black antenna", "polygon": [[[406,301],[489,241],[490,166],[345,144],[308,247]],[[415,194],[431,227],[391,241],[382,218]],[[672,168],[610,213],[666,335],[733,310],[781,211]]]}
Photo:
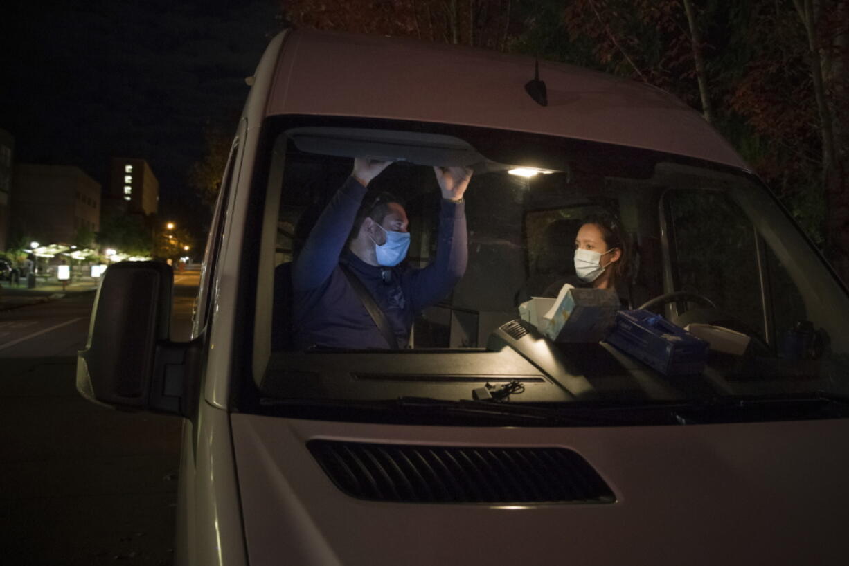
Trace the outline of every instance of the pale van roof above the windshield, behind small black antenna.
{"label": "pale van roof above the windshield, behind small black antenna", "polygon": [[397,37],[307,29],[284,34],[270,47],[282,44],[278,56],[263,58],[257,69],[257,78],[273,72],[266,115],[483,126],[652,149],[750,171],[700,114],[636,81],[540,61],[548,90],[543,107],[525,91],[534,78],[532,57]]}

